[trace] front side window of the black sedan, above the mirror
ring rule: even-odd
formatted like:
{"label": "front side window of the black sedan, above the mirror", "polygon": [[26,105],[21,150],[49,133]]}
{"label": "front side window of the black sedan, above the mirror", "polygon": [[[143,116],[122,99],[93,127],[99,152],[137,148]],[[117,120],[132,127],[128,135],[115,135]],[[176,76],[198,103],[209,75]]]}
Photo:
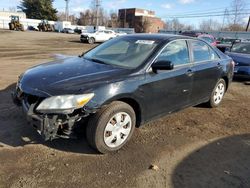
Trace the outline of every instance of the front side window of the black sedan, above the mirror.
{"label": "front side window of the black sedan, above the mirror", "polygon": [[177,40],[168,44],[158,56],[158,60],[171,61],[175,66],[189,63],[186,41]]}

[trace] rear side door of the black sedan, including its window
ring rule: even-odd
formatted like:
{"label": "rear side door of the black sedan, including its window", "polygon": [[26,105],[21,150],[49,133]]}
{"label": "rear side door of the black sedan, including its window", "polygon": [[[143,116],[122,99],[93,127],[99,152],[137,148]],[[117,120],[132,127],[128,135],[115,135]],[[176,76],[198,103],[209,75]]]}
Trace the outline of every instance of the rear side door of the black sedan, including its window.
{"label": "rear side door of the black sedan, including its window", "polygon": [[205,42],[188,40],[188,43],[194,73],[190,100],[195,104],[208,100],[221,75],[222,66],[217,53]]}

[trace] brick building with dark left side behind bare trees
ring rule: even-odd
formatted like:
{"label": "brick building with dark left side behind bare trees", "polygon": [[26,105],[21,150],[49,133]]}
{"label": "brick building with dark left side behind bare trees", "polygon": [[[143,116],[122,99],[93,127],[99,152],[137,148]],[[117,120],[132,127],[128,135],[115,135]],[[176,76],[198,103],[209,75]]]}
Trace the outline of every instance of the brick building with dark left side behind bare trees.
{"label": "brick building with dark left side behind bare trees", "polygon": [[157,33],[165,23],[155,16],[155,12],[138,8],[120,9],[120,27],[134,28],[136,33]]}

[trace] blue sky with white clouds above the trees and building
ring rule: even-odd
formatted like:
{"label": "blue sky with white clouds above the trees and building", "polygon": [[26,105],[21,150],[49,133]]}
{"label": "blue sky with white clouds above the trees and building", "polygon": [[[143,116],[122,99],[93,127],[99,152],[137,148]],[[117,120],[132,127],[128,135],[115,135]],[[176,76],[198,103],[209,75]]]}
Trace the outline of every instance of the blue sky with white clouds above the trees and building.
{"label": "blue sky with white clouds above the trees and building", "polygon": [[[8,10],[9,7],[16,7],[21,0],[0,0],[0,10]],[[249,15],[243,15],[243,22],[247,22],[250,16],[250,1],[245,1],[246,12]],[[193,14],[202,12],[220,12],[225,8],[230,9],[232,0],[101,0],[101,5],[107,12],[117,11],[120,8],[143,8],[153,10],[156,15],[163,20],[170,19],[173,15]],[[69,0],[70,14],[78,15],[80,11],[88,9],[91,0]],[[54,7],[58,11],[65,10],[65,0],[54,0]],[[179,18],[182,23],[198,24],[206,18]],[[218,22],[222,22],[223,16],[211,17]]]}

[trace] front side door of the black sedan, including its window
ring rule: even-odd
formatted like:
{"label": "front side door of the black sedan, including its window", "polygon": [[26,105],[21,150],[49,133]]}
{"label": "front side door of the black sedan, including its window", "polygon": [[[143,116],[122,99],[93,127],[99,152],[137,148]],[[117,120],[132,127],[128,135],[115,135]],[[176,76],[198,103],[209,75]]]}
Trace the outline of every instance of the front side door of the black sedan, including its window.
{"label": "front side door of the black sedan, including its window", "polygon": [[192,92],[193,73],[186,40],[175,40],[167,44],[158,60],[171,61],[174,69],[147,73],[142,90],[149,119],[187,106]]}

